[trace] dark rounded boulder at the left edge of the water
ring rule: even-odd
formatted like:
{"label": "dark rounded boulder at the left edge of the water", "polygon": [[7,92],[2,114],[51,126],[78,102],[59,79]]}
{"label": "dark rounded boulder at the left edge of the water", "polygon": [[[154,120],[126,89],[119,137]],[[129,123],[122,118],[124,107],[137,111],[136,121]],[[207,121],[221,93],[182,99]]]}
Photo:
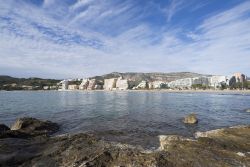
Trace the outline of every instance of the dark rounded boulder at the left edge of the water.
{"label": "dark rounded boulder at the left edge of the water", "polygon": [[59,130],[59,125],[50,121],[41,121],[35,118],[20,118],[12,125],[11,130],[32,135],[49,135]]}

